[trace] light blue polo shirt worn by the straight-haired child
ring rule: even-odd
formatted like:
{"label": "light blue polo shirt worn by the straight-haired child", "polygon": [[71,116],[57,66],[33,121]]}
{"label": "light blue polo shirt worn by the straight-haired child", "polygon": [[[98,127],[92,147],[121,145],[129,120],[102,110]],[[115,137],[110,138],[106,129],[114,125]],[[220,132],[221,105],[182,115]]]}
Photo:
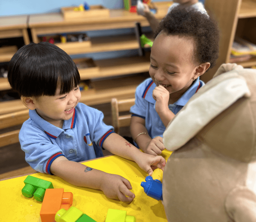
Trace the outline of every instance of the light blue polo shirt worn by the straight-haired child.
{"label": "light blue polo shirt worn by the straight-haired child", "polygon": [[[78,103],[73,117],[64,120],[62,129],[41,118],[36,110],[29,110],[29,119],[21,127],[19,139],[29,165],[49,173],[53,160],[65,156],[80,162],[103,156],[102,144],[113,127],[103,122],[103,113]],[[52,175],[52,174],[51,174]]]}

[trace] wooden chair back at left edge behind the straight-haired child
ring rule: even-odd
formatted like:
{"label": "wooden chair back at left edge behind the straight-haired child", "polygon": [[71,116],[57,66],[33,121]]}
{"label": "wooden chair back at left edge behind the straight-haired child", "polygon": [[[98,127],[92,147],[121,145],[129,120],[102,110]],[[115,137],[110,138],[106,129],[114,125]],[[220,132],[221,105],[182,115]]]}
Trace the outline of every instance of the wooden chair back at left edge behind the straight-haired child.
{"label": "wooden chair back at left edge behind the straight-haired child", "polygon": [[20,130],[8,131],[9,127],[22,124],[29,118],[29,109],[21,110],[18,112],[0,115],[0,129],[6,129],[7,132],[0,134],[0,147],[10,144],[18,143],[18,134]]}

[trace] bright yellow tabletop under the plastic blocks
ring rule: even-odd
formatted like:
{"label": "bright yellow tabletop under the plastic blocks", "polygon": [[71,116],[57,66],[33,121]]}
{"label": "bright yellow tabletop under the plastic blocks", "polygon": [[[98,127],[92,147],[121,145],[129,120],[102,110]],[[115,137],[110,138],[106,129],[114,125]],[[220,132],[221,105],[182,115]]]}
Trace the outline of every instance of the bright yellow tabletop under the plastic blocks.
{"label": "bright yellow tabletop under the plastic blocks", "polygon": [[[164,150],[162,156],[167,161],[171,153]],[[54,188],[64,188],[64,192],[72,192],[74,197],[72,206],[83,211],[96,222],[105,221],[109,208],[126,210],[127,215],[136,217],[136,222],[167,222],[162,202],[146,196],[143,187],[140,186],[148,174],[140,169],[135,162],[112,155],[90,160],[83,164],[128,179],[132,185],[132,192],[136,196],[131,204],[109,199],[101,190],[76,187],[58,176],[44,173],[34,173],[32,176],[52,182]],[[26,177],[20,176],[0,181],[1,222],[41,222],[42,202],[36,201],[34,197],[27,198],[21,194],[21,189],[24,187],[23,181]]]}

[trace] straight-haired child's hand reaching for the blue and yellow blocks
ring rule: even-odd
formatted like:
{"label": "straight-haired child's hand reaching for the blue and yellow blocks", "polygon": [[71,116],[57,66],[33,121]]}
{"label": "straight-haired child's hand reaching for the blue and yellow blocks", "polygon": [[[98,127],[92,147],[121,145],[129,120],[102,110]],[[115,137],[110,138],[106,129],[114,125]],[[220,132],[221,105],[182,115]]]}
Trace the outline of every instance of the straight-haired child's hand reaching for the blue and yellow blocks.
{"label": "straight-haired child's hand reaching for the blue and yellow blocks", "polygon": [[153,173],[152,168],[156,169],[156,167],[158,167],[164,170],[166,160],[162,156],[153,156],[141,152],[141,154],[138,155],[138,158],[136,159],[136,163],[141,169],[144,169],[149,176],[151,176]]}

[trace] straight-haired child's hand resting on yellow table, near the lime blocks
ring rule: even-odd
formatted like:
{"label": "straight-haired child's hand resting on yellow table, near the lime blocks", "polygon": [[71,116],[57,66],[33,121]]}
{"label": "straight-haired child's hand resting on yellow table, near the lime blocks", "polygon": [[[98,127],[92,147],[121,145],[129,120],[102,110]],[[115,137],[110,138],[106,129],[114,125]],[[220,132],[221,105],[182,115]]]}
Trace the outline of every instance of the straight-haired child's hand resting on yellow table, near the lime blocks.
{"label": "straight-haired child's hand resting on yellow table, near the lime blocks", "polygon": [[135,198],[135,194],[130,191],[132,189],[131,183],[124,177],[116,174],[104,174],[100,189],[104,192],[106,197],[119,199],[125,203],[132,202],[133,198]]}

